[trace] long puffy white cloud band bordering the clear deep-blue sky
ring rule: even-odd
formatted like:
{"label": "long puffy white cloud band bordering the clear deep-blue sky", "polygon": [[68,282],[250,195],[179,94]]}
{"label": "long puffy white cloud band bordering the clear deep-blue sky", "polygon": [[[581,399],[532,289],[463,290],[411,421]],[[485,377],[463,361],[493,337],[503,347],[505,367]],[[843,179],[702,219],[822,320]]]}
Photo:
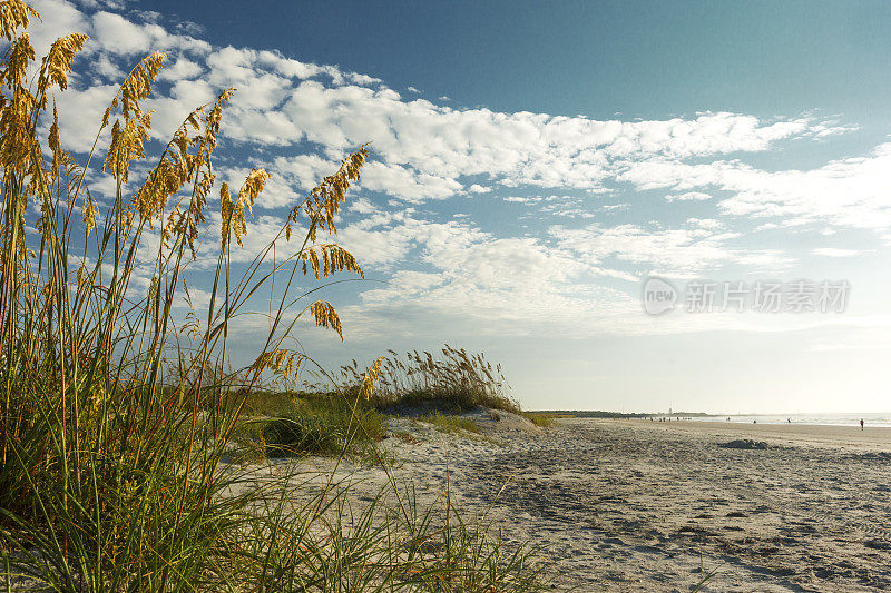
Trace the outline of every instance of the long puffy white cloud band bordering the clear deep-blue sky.
{"label": "long puffy white cloud band bordering the clear deep-blue sky", "polygon": [[[108,11],[86,19],[70,4],[59,6],[66,22],[88,24],[98,47],[127,63],[155,49],[172,53],[163,78],[176,85],[169,96],[154,103],[157,120],[166,127],[210,95],[208,90],[215,95],[234,86],[238,93],[226,113],[225,138],[267,147],[305,148],[310,142],[323,154],[342,154],[370,141],[374,160],[365,187],[411,202],[462,191],[478,194],[495,184],[600,192],[616,180],[681,190],[669,195],[669,201],[702,200],[707,194],[693,188],[715,185],[722,172],[740,166],[726,164],[717,171],[712,166],[686,178],[678,177],[682,169],[697,166],[683,159],[763,151],[780,140],[844,129],[807,117],[763,121],[728,112],[627,122],[457,109],[403,99],[374,77],[333,66],[302,62],[275,51],[213,48],[155,22],[133,22]],[[116,73],[107,67],[102,71]],[[187,92],[188,81],[192,91],[204,87],[202,92]],[[466,179],[480,175],[491,182],[483,186]],[[728,211],[745,210],[743,205],[722,204]],[[570,216],[576,209],[565,213]]]}

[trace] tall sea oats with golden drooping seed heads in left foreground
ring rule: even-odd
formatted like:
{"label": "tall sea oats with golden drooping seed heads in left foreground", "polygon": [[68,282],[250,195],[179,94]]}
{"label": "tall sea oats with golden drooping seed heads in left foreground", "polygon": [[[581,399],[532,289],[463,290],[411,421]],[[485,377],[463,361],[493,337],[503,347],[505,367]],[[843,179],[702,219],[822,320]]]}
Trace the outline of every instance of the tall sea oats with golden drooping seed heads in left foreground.
{"label": "tall sea oats with golden drooping seed heads in left foreground", "polygon": [[[368,149],[310,191],[238,277],[231,254],[268,175],[252,170],[237,194],[222,184],[209,304],[177,325],[234,90],[189,113],[137,181],[131,165],[150,144],[143,102],[165,59],[153,53],[121,83],[80,162],[63,149],[53,93],[66,90],[88,38],[58,39],[38,63],[27,32],[38,18],[21,0],[0,2],[0,544],[7,559],[38,554],[45,570],[33,576],[55,589],[178,589],[207,574],[236,516],[217,496],[216,467],[242,405],[224,394],[264,374],[296,374],[307,357],[283,344],[301,319],[342,334],[330,303],[295,290],[310,273],[362,275],[351,254],[319,238],[336,234]],[[106,142],[101,172],[116,191],[100,211],[89,181]],[[303,228],[297,240],[294,228]],[[273,246],[287,240],[290,256],[272,264]],[[148,289],[138,281],[145,269]],[[263,348],[246,368],[226,369],[233,319],[277,276]]]}

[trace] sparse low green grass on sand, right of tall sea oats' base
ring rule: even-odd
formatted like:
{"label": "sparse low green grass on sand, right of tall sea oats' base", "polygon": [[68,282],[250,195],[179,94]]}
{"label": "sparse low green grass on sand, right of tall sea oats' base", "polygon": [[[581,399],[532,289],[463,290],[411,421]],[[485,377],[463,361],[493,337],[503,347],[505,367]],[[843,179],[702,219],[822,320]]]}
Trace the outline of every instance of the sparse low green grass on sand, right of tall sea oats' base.
{"label": "sparse low green grass on sand, right of tall sea oats' base", "polygon": [[[296,502],[264,498],[237,544],[241,554],[225,572],[241,575],[238,584],[247,591],[549,589],[537,551],[505,545],[484,516],[468,522],[448,484],[432,505],[421,504],[412,488],[394,482],[362,506],[354,500],[349,487],[337,485]],[[264,559],[262,571],[253,560],[243,561],[256,557]]]}

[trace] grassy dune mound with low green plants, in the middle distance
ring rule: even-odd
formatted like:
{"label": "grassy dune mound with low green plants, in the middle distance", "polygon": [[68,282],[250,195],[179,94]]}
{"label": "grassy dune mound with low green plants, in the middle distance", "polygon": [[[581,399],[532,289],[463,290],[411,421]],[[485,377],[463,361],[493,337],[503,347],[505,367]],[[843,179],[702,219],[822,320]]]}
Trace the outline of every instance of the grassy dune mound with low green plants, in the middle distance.
{"label": "grassy dune mound with low green plants, in the middle distance", "polygon": [[[376,376],[373,394],[360,397],[369,376]],[[266,456],[306,454],[364,455],[371,443],[386,433],[389,415],[407,415],[443,433],[479,433],[480,427],[460,414],[479,407],[522,415],[549,427],[556,417],[525,413],[510,395],[500,365],[483,354],[444,346],[441,357],[429,352],[390,353],[370,368],[355,360],[341,368],[340,382],[309,386],[311,392],[257,391],[242,398],[245,421],[237,432],[247,449]],[[349,445],[347,445],[349,443]]]}

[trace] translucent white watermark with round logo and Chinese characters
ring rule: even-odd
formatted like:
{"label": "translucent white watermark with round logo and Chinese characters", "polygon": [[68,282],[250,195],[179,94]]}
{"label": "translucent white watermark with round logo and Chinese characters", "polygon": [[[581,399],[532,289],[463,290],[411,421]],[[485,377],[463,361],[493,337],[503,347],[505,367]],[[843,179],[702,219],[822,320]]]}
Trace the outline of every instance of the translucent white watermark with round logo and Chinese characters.
{"label": "translucent white watermark with round logo and Chinese characters", "polygon": [[844,313],[851,285],[848,280],[743,281],[693,280],[684,286],[684,298],[667,280],[650,277],[644,283],[644,310],[660,315],[682,302],[687,313],[752,310],[756,313]]}

